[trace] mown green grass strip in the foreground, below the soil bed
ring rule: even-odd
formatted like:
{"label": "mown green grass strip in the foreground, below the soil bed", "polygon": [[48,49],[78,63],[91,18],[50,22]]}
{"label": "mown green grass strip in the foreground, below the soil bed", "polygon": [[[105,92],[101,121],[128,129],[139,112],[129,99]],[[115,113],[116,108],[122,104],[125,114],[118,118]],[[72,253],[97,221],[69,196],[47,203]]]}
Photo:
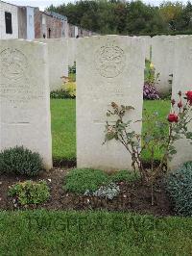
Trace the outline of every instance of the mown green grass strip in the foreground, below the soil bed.
{"label": "mown green grass strip in the foreground, below the soil bed", "polygon": [[0,212],[0,255],[191,255],[192,218]]}

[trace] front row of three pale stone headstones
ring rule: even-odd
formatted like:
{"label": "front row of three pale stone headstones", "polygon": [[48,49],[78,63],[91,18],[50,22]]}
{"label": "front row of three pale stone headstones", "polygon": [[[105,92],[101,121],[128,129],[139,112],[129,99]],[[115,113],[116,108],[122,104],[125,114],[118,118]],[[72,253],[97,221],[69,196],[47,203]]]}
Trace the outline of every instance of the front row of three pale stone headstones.
{"label": "front row of three pale stone headstones", "polygon": [[[50,60],[56,46],[25,40],[0,41],[0,149],[24,145],[39,152],[52,166],[49,78],[59,68]],[[60,41],[60,43],[65,43]],[[58,46],[58,56],[62,56]],[[178,38],[173,64],[173,96],[192,90],[192,38]],[[65,48],[64,48],[65,49]],[[64,50],[63,50],[64,51]],[[106,113],[112,101],[132,105],[129,119],[142,117],[146,41],[105,36],[78,39],[77,47],[77,162],[79,167],[132,168],[131,156],[117,141],[103,145]],[[51,67],[52,66],[52,67]],[[141,133],[141,123],[132,129]],[[192,130],[192,127],[191,127]],[[171,167],[192,160],[188,141],[177,143]]]}

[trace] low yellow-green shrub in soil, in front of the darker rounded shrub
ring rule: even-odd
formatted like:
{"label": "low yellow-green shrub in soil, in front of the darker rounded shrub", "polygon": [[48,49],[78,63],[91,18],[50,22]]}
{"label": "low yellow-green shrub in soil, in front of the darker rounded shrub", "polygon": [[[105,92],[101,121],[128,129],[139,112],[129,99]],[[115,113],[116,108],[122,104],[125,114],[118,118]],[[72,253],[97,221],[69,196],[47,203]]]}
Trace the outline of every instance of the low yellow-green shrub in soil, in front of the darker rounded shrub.
{"label": "low yellow-green shrub in soil, in front of the darker rounded shrub", "polygon": [[49,187],[45,181],[30,180],[12,185],[8,194],[21,206],[43,203],[50,196]]}

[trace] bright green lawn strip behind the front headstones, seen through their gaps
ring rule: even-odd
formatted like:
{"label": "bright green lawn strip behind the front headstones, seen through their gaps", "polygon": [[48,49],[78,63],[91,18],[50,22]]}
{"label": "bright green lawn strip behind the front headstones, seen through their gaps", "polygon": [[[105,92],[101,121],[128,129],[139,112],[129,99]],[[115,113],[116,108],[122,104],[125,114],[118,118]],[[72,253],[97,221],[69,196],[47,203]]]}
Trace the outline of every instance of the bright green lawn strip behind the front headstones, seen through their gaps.
{"label": "bright green lawn strip behind the front headstones, seen through their gaps", "polygon": [[[169,100],[145,100],[144,108],[149,113],[158,112],[159,118],[166,118],[169,113]],[[55,163],[75,164],[76,160],[76,101],[73,99],[51,99],[53,157]],[[151,124],[149,124],[151,125]],[[143,127],[143,131],[147,126]],[[167,130],[168,132],[168,130]],[[162,152],[156,148],[155,159],[159,160]],[[144,152],[143,160],[149,161],[149,152]]]}

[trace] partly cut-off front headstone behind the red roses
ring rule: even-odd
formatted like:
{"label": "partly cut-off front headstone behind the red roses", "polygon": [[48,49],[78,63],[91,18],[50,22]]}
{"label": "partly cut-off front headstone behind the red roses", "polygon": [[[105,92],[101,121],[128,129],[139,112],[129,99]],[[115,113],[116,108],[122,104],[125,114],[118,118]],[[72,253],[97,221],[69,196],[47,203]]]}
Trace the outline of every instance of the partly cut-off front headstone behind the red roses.
{"label": "partly cut-off front headstone behind the red roses", "polygon": [[[176,42],[174,60],[174,79],[172,98],[179,99],[178,92],[182,91],[183,96],[187,90],[192,90],[192,37],[182,37]],[[191,116],[192,117],[192,116]],[[188,126],[192,132],[192,124]],[[192,161],[192,144],[186,139],[181,139],[175,143],[177,154],[169,163],[170,168],[177,168],[184,162]]]}

